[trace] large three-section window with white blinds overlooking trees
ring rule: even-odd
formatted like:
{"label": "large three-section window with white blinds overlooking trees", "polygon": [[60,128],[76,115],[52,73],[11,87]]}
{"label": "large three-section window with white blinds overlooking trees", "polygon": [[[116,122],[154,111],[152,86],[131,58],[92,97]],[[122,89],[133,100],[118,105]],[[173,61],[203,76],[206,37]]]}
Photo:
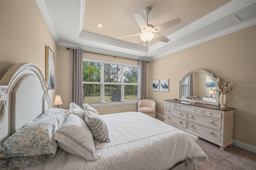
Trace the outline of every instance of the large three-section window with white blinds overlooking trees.
{"label": "large three-section window with white blinds overlooking trees", "polygon": [[136,101],[138,66],[84,59],[84,103]]}

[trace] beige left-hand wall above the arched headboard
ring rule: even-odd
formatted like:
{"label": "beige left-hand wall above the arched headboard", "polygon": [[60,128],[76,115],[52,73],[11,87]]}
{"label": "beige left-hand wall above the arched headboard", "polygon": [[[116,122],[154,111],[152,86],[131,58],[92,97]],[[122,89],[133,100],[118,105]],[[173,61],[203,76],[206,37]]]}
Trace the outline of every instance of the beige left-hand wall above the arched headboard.
{"label": "beige left-hand wall above the arched headboard", "polygon": [[[36,2],[0,0],[0,4],[0,77],[19,62],[38,65],[45,76],[45,46],[48,45],[52,49],[56,57],[55,62],[58,63],[58,45]],[[58,77],[58,73],[55,76]],[[56,82],[55,87],[57,86]],[[49,90],[52,103],[56,89]]]}

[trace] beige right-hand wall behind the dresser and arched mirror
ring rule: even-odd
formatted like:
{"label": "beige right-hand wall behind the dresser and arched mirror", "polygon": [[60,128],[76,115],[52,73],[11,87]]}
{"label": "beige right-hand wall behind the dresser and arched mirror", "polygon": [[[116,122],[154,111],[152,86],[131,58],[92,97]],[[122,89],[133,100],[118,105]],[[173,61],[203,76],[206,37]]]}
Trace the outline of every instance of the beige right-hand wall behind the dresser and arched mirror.
{"label": "beige right-hand wall behind the dresser and arched mirror", "polygon": [[[235,82],[228,107],[235,107],[234,139],[256,146],[256,25],[150,61],[148,88],[153,79],[169,79],[169,92],[148,91],[156,112],[164,115],[164,99],[179,96],[179,81],[194,69],[204,69]],[[212,64],[210,64],[212,63]],[[246,86],[249,85],[249,86]]]}

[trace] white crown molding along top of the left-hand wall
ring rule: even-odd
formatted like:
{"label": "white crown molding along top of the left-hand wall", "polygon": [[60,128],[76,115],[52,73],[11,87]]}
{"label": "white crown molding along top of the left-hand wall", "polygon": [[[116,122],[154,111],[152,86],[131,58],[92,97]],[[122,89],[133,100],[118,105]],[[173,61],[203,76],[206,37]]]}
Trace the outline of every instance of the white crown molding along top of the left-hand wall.
{"label": "white crown molding along top of the left-hand wall", "polygon": [[52,18],[50,17],[50,14],[46,8],[44,1],[36,0],[36,4],[38,5],[38,7],[43,15],[44,20],[45,20],[46,24],[48,25],[48,28],[50,29],[50,32],[52,33],[54,40],[56,41],[56,43],[58,43],[58,41],[59,41],[58,33],[54,27],[54,23],[52,22]]}

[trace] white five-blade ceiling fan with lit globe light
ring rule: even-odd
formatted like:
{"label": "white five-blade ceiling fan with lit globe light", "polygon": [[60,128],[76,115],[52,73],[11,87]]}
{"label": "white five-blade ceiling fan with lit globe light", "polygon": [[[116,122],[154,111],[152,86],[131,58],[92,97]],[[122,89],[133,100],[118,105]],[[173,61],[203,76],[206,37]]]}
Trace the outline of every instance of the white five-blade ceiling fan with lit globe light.
{"label": "white five-blade ceiling fan with lit globe light", "polygon": [[135,20],[141,28],[141,33],[118,36],[118,38],[140,36],[141,40],[138,43],[139,46],[147,45],[148,42],[150,42],[152,39],[156,39],[161,42],[170,41],[168,38],[161,36],[159,34],[156,34],[156,33],[160,32],[162,30],[165,30],[167,28],[170,28],[172,26],[175,26],[176,24],[179,24],[181,22],[180,18],[170,20],[168,22],[160,24],[159,26],[154,27],[153,25],[148,24],[148,13],[150,12],[150,10],[151,10],[150,8],[146,8],[144,10],[144,12],[147,14],[147,22],[145,22],[145,20],[142,18],[140,13],[134,14]]}

